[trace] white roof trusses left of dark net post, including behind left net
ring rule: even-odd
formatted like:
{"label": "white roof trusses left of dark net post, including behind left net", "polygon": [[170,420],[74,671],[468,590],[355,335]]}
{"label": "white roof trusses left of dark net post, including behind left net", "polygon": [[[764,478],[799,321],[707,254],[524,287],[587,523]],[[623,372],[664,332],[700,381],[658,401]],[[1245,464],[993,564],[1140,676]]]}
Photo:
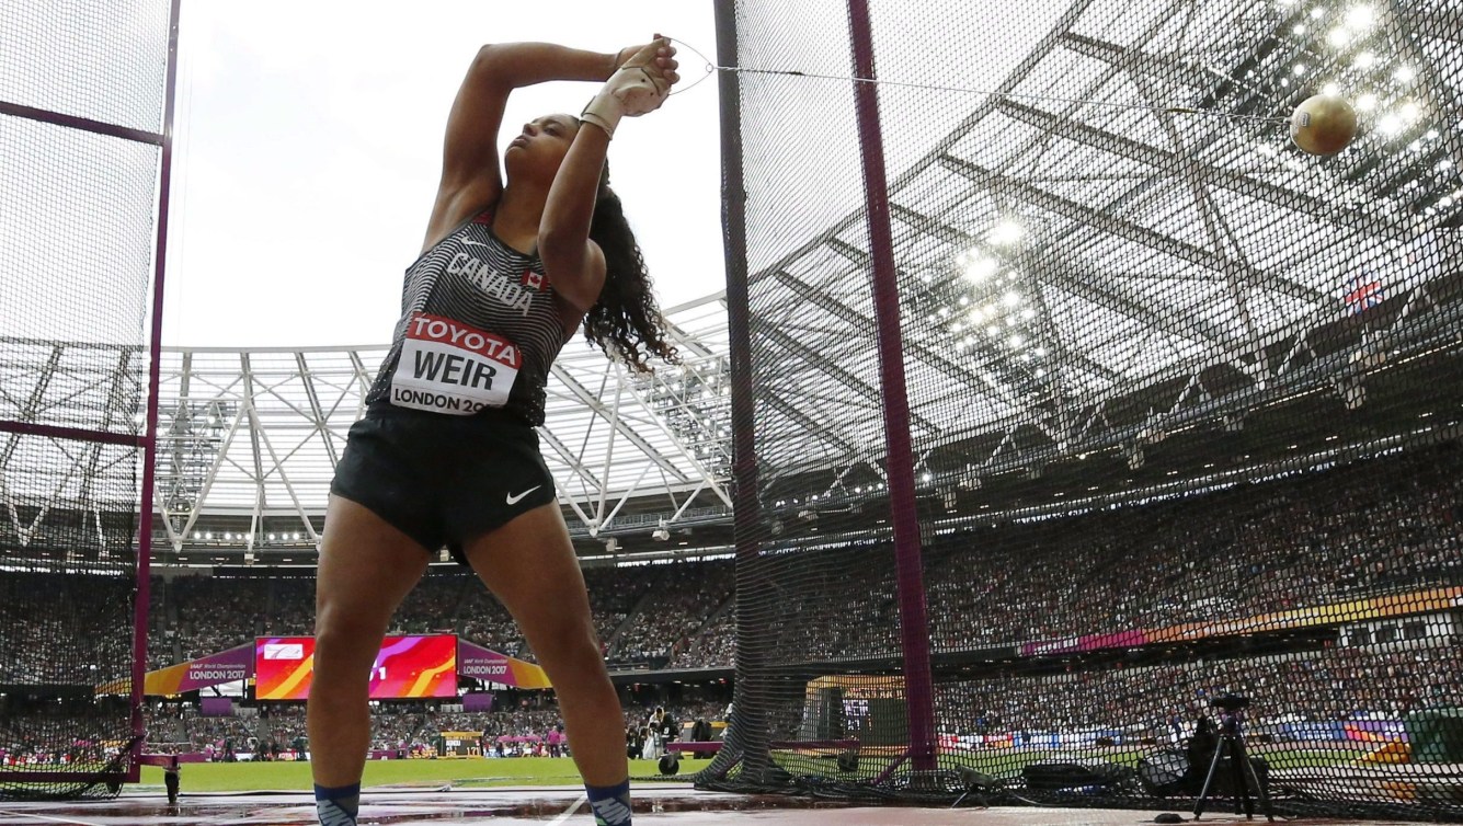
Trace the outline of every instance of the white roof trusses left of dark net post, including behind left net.
{"label": "white roof trusses left of dark net post, including behind left net", "polygon": [[[726,306],[711,295],[666,317],[679,367],[638,376],[579,341],[553,368],[541,449],[575,537],[730,515]],[[140,430],[136,348],[12,339],[3,352],[0,418],[66,425],[99,405],[121,430]],[[152,499],[167,544],[225,554],[316,545],[335,463],[385,355],[385,346],[165,349]],[[95,450],[56,442],[54,461],[25,462],[22,472],[12,462],[19,440],[0,442],[4,532],[23,547],[47,519],[44,503],[73,499],[67,488]]]}

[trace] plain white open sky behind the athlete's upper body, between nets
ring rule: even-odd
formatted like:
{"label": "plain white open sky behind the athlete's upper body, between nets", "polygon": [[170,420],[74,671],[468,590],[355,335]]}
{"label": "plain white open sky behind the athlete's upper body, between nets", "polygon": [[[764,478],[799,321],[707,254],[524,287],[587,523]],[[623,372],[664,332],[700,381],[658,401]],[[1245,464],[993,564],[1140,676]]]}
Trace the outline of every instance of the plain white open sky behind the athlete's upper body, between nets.
{"label": "plain white open sky behind the athlete's upper body, between nets", "polygon": [[[385,344],[477,47],[616,51],[657,31],[715,57],[707,1],[184,0],[164,344]],[[680,57],[682,86],[705,75]],[[515,92],[502,142],[593,94]],[[712,77],[622,124],[610,148],[666,307],[724,287],[717,117]]]}

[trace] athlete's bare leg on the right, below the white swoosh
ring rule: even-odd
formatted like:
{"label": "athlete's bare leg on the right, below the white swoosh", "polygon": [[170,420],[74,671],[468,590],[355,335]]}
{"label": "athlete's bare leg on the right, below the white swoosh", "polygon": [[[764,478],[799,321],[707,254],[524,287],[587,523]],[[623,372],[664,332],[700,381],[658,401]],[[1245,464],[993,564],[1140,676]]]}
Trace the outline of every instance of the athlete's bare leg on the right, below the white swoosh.
{"label": "athlete's bare leg on the right, below the white swoosh", "polygon": [[584,573],[559,504],[535,507],[464,550],[549,674],[584,782],[623,782],[629,776],[625,716],[604,667]]}

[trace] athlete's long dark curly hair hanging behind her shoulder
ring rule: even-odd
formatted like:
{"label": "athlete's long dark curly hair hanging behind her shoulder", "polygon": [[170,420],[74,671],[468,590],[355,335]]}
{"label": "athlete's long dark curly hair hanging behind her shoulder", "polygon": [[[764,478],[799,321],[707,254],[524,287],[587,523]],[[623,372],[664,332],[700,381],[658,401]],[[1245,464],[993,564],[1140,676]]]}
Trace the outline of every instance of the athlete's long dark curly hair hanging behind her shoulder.
{"label": "athlete's long dark curly hair hanging behind her shoulder", "polygon": [[590,238],[604,251],[604,288],[584,316],[584,338],[610,357],[620,357],[636,373],[650,373],[650,355],[679,364],[676,348],[666,341],[666,319],[655,304],[645,256],[625,219],[625,206],[610,189],[610,167],[600,174]]}

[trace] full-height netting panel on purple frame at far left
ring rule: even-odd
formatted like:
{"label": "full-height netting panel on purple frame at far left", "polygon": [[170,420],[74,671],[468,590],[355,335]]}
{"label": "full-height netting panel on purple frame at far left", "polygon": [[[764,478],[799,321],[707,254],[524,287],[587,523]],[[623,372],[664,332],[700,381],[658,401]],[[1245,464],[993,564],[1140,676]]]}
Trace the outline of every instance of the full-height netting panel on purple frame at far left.
{"label": "full-height netting panel on purple frame at far left", "polygon": [[167,0],[0,9],[0,797],[135,769]]}

